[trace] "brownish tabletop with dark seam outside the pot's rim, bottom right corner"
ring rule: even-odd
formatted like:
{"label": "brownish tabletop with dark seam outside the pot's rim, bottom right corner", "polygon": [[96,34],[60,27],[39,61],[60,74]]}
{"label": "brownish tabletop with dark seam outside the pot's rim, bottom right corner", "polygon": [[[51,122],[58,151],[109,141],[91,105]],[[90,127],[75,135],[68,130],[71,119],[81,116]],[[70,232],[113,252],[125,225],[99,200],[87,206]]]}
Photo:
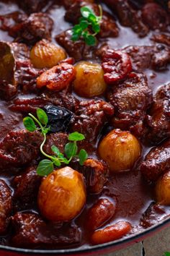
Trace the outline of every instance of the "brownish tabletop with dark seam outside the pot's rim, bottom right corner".
{"label": "brownish tabletop with dark seam outside the pot's rim, bottom right corner", "polygon": [[170,228],[127,249],[104,256],[163,256],[164,252],[170,252]]}

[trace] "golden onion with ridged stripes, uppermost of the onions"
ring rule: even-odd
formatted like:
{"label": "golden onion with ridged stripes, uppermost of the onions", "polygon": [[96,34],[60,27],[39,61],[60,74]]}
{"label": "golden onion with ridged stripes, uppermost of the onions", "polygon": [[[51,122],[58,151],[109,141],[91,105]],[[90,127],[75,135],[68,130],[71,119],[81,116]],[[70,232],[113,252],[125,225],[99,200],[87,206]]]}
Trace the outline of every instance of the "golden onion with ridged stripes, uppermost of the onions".
{"label": "golden onion with ridged stripes, uppermost of the onions", "polygon": [[40,40],[30,51],[30,59],[37,69],[51,68],[66,59],[66,51],[48,40]]}

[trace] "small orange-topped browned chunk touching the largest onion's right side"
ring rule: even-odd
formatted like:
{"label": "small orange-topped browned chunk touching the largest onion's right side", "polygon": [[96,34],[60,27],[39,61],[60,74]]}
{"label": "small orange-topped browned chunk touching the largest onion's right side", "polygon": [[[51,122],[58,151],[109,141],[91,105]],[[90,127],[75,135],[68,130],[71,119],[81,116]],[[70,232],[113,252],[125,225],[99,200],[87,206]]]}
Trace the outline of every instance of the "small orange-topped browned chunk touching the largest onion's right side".
{"label": "small orange-topped browned chunk touching the largest onion's right side", "polygon": [[107,182],[109,170],[104,161],[87,159],[81,168],[81,173],[86,179],[86,187],[90,193],[99,194]]}

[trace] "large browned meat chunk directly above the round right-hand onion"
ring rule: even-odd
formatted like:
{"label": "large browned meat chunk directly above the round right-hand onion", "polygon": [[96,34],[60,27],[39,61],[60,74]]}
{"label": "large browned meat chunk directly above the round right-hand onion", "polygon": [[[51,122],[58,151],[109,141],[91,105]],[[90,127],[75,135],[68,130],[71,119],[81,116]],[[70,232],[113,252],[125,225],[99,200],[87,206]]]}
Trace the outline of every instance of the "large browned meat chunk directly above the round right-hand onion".
{"label": "large browned meat chunk directly above the round right-hand onion", "polygon": [[112,124],[115,128],[130,130],[143,136],[143,120],[153,96],[143,73],[132,72],[128,79],[117,83],[107,92],[108,101],[115,108]]}

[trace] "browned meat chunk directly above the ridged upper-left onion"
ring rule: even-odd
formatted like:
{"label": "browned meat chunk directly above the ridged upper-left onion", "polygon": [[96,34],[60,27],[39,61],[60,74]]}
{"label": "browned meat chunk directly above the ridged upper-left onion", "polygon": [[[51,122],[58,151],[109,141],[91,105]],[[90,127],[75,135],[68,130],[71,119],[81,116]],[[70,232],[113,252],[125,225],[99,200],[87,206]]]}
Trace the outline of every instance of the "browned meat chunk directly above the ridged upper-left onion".
{"label": "browned meat chunk directly above the ridged upper-left onion", "polygon": [[[10,20],[9,20],[10,19]],[[14,12],[0,16],[1,28],[19,42],[35,43],[42,38],[50,40],[53,20],[48,14],[38,12],[29,17],[26,14]]]}

